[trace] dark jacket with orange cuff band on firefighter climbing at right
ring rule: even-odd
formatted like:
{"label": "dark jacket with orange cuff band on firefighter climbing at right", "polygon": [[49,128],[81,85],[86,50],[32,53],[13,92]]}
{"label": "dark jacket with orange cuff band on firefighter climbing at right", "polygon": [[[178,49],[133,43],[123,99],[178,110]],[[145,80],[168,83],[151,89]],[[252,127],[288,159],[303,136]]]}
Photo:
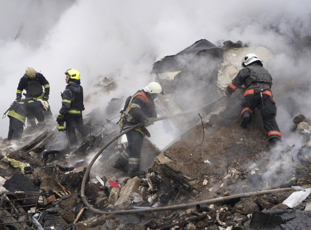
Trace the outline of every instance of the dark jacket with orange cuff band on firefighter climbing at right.
{"label": "dark jacket with orange cuff band on firefighter climbing at right", "polygon": [[226,88],[227,94],[232,94],[239,86],[244,85],[247,89],[250,85],[254,83],[266,83],[272,86],[272,77],[264,67],[253,64],[241,69],[235,78]]}

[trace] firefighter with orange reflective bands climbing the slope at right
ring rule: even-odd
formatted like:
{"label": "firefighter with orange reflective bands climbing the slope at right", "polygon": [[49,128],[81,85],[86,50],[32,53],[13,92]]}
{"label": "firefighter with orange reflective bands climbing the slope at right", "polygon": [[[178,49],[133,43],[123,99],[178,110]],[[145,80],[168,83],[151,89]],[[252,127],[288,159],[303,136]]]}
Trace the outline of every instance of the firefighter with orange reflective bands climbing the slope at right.
{"label": "firefighter with orange reflective bands climbing the slope at right", "polygon": [[271,93],[272,77],[263,67],[262,61],[254,53],[242,58],[242,67],[236,77],[227,86],[224,95],[230,95],[244,84],[245,92],[242,98],[241,123],[245,128],[252,120],[253,110],[257,107],[263,127],[268,133],[269,144],[275,145],[281,141],[281,131],[276,123],[276,105]]}

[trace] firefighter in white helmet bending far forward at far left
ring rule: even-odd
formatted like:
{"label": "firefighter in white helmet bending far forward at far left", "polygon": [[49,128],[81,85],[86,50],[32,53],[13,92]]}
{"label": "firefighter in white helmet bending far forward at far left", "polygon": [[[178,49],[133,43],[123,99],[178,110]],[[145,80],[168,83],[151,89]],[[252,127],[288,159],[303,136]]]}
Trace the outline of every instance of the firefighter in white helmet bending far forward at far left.
{"label": "firefighter in white helmet bending far forward at far left", "polygon": [[[21,139],[24,131],[26,117],[29,119],[31,127],[44,127],[44,112],[48,111],[49,103],[42,99],[33,98],[22,99],[19,102],[14,101],[9,109],[7,116],[10,118],[9,132],[7,135],[7,145],[16,143]],[[38,120],[38,126],[35,123]]]}

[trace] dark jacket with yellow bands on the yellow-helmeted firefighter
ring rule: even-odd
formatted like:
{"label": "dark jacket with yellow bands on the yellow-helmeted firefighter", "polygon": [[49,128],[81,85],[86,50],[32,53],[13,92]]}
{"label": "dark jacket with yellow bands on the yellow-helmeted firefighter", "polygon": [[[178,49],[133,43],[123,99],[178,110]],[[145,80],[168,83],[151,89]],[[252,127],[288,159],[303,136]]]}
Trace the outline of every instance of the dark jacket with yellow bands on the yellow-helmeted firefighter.
{"label": "dark jacket with yellow bands on the yellow-helmeted firefighter", "polygon": [[83,88],[77,83],[70,83],[62,93],[62,108],[59,114],[65,116],[67,113],[81,114],[84,110]]}

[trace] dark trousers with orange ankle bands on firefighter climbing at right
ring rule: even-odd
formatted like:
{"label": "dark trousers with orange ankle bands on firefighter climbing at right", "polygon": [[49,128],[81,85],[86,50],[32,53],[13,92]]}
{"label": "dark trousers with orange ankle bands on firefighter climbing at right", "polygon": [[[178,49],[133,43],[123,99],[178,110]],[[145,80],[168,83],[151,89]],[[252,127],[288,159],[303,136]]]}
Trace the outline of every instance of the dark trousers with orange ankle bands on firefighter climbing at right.
{"label": "dark trousers with orange ankle bands on firefighter climbing at right", "polygon": [[276,105],[270,95],[262,94],[263,105],[260,93],[244,95],[242,98],[243,113],[249,112],[252,116],[253,110],[257,107],[263,122],[263,127],[268,133],[268,139],[277,138],[281,140],[281,131],[276,123]]}

